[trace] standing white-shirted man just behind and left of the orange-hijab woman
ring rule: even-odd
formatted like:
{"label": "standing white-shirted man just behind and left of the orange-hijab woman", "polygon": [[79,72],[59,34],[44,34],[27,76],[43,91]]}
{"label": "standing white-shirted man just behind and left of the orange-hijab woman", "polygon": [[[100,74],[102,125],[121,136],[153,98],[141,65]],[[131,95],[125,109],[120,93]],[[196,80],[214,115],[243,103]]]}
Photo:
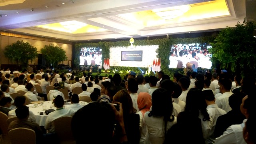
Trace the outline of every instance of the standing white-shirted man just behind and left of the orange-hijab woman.
{"label": "standing white-shirted man just behind and left of the orange-hijab woman", "polygon": [[138,103],[137,103],[137,99],[138,99],[138,83],[136,82],[135,78],[129,78],[128,79],[128,93],[130,94],[131,98],[132,98],[132,105],[133,107],[138,111]]}

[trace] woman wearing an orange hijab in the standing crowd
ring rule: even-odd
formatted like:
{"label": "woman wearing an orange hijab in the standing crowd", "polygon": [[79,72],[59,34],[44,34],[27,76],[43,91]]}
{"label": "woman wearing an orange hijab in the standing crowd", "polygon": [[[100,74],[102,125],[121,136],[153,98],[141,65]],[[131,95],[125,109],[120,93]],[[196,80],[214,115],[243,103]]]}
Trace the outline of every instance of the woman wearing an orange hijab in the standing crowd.
{"label": "woman wearing an orange hijab in the standing crowd", "polygon": [[140,92],[138,94],[138,108],[139,112],[137,114],[140,115],[140,144],[144,144],[146,133],[147,133],[147,126],[144,120],[144,114],[150,110],[152,106],[151,96],[147,92]]}

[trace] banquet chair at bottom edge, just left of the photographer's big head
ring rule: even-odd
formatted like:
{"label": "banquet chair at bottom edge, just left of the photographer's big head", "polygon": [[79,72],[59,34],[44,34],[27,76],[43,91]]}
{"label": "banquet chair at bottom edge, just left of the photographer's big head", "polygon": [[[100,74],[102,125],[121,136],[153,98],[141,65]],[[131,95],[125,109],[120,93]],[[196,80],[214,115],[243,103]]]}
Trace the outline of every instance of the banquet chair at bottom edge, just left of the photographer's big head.
{"label": "banquet chair at bottom edge, just left of the photographer's big head", "polygon": [[55,133],[60,144],[75,144],[71,130],[71,116],[62,116],[53,121]]}

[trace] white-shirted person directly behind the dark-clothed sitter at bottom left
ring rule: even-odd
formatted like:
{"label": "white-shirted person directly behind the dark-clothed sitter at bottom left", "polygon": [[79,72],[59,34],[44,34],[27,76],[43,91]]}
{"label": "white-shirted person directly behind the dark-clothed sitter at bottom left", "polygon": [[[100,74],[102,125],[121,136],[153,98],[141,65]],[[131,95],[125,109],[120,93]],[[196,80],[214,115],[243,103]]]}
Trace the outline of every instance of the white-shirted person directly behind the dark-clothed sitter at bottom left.
{"label": "white-shirted person directly behind the dark-clothed sitter at bottom left", "polygon": [[[14,99],[14,104],[18,108],[18,107],[24,106],[25,105],[25,101],[26,101],[26,97],[25,96],[17,96]],[[16,117],[15,110],[16,109],[9,111],[8,118]],[[35,116],[35,114],[32,111],[29,111],[28,121],[36,122],[36,116]]]}

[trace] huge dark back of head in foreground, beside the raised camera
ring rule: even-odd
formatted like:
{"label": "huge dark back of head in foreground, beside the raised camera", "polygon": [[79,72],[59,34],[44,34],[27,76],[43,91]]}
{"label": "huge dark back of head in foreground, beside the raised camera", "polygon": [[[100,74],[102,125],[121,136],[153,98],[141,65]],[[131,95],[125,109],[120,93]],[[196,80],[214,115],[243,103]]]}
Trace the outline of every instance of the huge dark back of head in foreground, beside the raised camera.
{"label": "huge dark back of head in foreground, beside the raised camera", "polygon": [[[76,143],[83,144],[84,140],[95,144],[112,143],[114,118],[109,105],[98,102],[87,104],[72,118],[71,128]],[[78,131],[79,129],[82,131]]]}

